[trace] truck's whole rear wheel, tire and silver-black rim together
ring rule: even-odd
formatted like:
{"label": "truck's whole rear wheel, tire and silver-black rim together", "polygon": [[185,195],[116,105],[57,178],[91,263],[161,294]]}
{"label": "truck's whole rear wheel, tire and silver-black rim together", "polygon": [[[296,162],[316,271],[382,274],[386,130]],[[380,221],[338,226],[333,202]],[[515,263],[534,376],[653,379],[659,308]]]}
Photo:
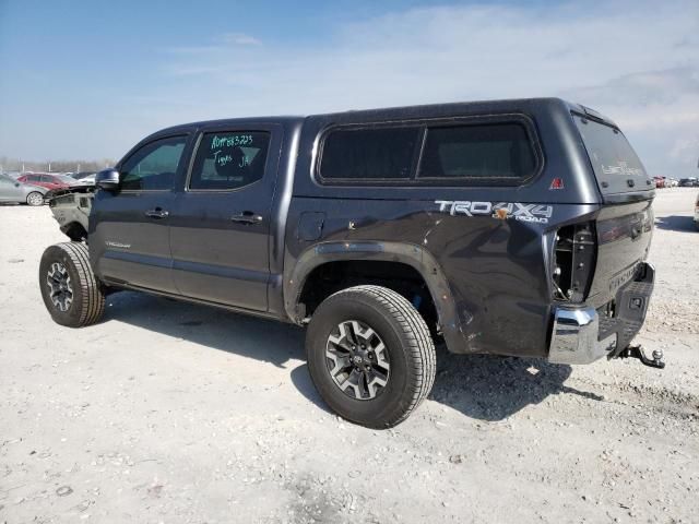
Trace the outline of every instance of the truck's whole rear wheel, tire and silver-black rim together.
{"label": "truck's whole rear wheel, tire and silver-black rim together", "polygon": [[340,416],[371,428],[403,421],[435,382],[435,345],[427,324],[398,293],[357,286],[315,311],[306,335],[308,369]]}

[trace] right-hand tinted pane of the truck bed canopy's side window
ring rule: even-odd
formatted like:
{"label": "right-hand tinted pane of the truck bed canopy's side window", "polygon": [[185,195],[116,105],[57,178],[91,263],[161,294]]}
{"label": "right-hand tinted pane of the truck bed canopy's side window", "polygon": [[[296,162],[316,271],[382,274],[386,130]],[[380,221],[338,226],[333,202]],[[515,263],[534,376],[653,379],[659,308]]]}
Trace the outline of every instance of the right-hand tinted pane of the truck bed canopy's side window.
{"label": "right-hand tinted pane of the truck bed canopy's side window", "polygon": [[438,127],[427,130],[418,178],[508,182],[532,176],[535,167],[536,157],[522,124]]}

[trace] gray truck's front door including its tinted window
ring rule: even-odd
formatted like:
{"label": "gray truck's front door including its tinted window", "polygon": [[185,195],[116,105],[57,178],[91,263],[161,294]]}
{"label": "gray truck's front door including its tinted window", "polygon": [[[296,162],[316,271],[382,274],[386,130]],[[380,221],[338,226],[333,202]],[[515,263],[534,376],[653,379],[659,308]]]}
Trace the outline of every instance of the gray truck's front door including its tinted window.
{"label": "gray truck's front door including its tinted window", "polygon": [[119,190],[97,192],[88,241],[102,278],[177,293],[169,229],[187,139],[168,136],[144,144],[119,166]]}

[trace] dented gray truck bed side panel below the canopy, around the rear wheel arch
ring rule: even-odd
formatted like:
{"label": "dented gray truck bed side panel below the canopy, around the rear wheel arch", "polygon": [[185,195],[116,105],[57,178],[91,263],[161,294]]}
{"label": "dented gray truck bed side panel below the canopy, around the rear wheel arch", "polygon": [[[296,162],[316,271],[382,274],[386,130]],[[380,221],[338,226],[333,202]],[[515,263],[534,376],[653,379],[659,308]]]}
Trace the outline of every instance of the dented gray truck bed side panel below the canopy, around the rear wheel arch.
{"label": "dented gray truck bed side panel below the canopy, around the rear wheel arch", "polygon": [[[300,210],[320,212],[327,203],[296,201],[289,223],[298,221]],[[554,206],[552,218],[565,223],[595,210],[594,205],[561,204]],[[425,277],[450,350],[543,356],[550,308],[546,240],[550,230],[550,224],[450,215],[434,201],[337,201],[332,215],[327,214],[320,241],[289,240],[285,266],[297,270],[289,281],[298,286],[286,286],[285,297],[293,303],[301,275],[329,260],[404,262]],[[370,243],[377,246],[372,253],[363,248]],[[347,249],[321,258],[318,248],[325,245]],[[411,248],[423,253],[422,262],[405,254]],[[305,267],[305,260],[312,265]],[[443,277],[433,277],[433,266]],[[439,289],[448,290],[447,298]]]}

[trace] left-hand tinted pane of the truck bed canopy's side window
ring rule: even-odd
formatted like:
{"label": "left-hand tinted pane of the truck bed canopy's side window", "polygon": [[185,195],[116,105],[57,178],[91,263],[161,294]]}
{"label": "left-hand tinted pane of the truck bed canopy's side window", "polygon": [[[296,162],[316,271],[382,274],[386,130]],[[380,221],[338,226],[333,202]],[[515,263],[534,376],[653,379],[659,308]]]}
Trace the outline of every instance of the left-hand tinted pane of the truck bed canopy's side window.
{"label": "left-hand tinted pane of the truck bed canopy's side window", "polygon": [[320,176],[329,180],[407,180],[417,127],[337,129],[323,141]]}

